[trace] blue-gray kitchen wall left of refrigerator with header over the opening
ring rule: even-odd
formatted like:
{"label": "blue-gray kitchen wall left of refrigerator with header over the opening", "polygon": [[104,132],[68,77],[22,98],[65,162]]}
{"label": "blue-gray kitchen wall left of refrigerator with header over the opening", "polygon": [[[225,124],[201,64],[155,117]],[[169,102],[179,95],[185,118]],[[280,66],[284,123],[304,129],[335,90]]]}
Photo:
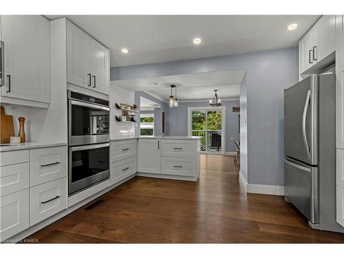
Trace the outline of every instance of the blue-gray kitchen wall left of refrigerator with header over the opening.
{"label": "blue-gray kitchen wall left of refrigerator with header over the opening", "polygon": [[[246,69],[246,78],[240,89],[241,173],[249,184],[281,186],[284,184],[283,89],[298,81],[296,47],[186,61],[111,67],[111,80],[231,69]],[[244,125],[246,119],[247,124]]]}

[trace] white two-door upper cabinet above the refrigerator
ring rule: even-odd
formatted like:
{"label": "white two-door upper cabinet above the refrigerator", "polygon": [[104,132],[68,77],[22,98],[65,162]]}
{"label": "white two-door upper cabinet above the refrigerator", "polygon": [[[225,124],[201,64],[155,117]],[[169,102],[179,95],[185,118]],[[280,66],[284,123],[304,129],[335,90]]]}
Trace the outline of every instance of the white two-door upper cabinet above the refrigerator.
{"label": "white two-door upper cabinet above the refrigerator", "polygon": [[314,74],[334,63],[336,18],[324,15],[299,41],[299,74]]}

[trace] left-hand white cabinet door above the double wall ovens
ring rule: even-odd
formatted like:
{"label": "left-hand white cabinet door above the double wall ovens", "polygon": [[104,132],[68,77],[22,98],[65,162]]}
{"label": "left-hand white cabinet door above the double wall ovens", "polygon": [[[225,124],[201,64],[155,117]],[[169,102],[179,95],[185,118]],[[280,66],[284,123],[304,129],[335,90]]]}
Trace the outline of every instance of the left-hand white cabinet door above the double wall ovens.
{"label": "left-hand white cabinet door above the double wall ovens", "polygon": [[91,89],[91,37],[67,21],[67,83]]}

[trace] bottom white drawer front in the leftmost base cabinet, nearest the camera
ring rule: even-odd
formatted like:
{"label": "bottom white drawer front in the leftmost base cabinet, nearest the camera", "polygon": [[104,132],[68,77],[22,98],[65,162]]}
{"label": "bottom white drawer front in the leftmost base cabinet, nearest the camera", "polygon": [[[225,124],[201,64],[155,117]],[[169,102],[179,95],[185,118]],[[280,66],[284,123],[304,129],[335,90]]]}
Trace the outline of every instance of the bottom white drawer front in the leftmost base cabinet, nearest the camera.
{"label": "bottom white drawer front in the leftmost base cabinet, nearest the camera", "polygon": [[29,189],[0,197],[0,239],[29,227]]}

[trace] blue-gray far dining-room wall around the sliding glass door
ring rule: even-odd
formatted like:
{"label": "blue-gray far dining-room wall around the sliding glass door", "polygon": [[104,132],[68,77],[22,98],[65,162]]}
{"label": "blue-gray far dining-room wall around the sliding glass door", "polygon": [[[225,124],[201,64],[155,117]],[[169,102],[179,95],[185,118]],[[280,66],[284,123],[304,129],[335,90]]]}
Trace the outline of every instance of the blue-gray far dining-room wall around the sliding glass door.
{"label": "blue-gray far dining-room wall around the sliding glass door", "polygon": [[[234,113],[232,107],[239,107],[239,100],[223,101],[226,107],[226,152],[233,152],[233,143],[230,138],[239,140],[239,113]],[[166,117],[166,127],[170,136],[188,135],[188,107],[208,107],[208,102],[179,103],[179,107],[169,109]]]}

